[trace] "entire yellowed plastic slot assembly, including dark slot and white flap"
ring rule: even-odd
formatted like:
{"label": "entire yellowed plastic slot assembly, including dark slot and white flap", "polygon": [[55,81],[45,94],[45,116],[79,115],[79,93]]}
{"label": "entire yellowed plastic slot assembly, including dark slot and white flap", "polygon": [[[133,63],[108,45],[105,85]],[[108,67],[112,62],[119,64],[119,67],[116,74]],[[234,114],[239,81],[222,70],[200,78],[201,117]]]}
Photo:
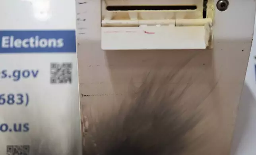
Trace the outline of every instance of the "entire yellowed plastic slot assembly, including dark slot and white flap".
{"label": "entire yellowed plastic slot assembly, including dark slot and white flap", "polygon": [[159,4],[151,0],[139,1],[102,0],[102,49],[213,47],[213,0],[161,1]]}

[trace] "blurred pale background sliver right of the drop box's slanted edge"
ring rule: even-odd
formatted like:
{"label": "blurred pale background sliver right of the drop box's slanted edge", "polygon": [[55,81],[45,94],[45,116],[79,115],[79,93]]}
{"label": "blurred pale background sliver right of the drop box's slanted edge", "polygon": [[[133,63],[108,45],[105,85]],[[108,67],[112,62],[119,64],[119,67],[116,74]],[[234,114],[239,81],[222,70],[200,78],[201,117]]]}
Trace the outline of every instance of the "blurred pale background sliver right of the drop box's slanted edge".
{"label": "blurred pale background sliver right of the drop box's slanted edge", "polygon": [[240,99],[240,106],[235,125],[235,134],[231,155],[256,154],[256,26],[254,26],[254,41],[248,62],[244,87]]}

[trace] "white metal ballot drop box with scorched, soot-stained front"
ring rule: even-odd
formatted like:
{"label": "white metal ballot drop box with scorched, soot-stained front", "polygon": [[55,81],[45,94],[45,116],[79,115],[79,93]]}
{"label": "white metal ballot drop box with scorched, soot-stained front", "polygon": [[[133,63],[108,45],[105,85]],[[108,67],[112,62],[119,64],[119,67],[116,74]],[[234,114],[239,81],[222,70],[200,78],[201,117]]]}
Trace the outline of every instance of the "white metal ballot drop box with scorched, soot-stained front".
{"label": "white metal ballot drop box with scorched, soot-stained front", "polygon": [[255,3],[78,3],[83,153],[228,155]]}

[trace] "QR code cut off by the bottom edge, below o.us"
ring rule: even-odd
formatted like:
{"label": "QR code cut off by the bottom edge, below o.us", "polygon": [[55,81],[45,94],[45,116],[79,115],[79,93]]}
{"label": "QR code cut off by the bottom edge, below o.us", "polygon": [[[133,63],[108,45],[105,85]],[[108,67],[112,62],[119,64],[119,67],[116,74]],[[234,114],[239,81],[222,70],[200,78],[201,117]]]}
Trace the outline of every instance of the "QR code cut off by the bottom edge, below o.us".
{"label": "QR code cut off by the bottom edge, below o.us", "polygon": [[6,146],[6,155],[29,155],[29,146],[8,145]]}

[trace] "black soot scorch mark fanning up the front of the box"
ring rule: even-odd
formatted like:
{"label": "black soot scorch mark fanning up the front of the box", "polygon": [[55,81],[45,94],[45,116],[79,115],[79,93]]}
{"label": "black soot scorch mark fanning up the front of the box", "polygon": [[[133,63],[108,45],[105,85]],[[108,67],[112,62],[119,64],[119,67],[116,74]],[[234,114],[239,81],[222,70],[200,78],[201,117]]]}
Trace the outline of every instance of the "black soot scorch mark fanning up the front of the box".
{"label": "black soot scorch mark fanning up the front of the box", "polygon": [[[193,139],[188,140],[186,135],[189,135],[204,117],[200,110],[196,109],[197,105],[201,104],[215,87],[213,85],[203,94],[198,92],[202,96],[200,98],[181,102],[184,96],[195,94],[194,89],[190,89],[193,81],[175,85],[167,83],[180,74],[191,59],[180,64],[168,75],[162,76],[161,81],[156,81],[159,76],[151,72],[138,89],[134,89],[134,83],[130,83],[128,96],[120,103],[120,109],[111,111],[108,117],[102,114],[104,110],[99,112],[100,115],[88,114],[93,126],[93,129],[88,129],[88,133],[92,135],[97,148],[93,147],[94,142],[89,136],[83,137],[86,144],[83,147],[84,155],[185,154],[184,150],[194,143]],[[196,107],[187,110],[182,106],[184,104],[193,104]],[[91,111],[97,113],[97,108]],[[96,119],[97,121],[93,121]]]}

